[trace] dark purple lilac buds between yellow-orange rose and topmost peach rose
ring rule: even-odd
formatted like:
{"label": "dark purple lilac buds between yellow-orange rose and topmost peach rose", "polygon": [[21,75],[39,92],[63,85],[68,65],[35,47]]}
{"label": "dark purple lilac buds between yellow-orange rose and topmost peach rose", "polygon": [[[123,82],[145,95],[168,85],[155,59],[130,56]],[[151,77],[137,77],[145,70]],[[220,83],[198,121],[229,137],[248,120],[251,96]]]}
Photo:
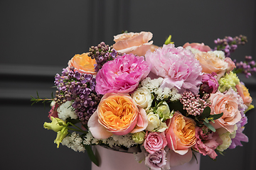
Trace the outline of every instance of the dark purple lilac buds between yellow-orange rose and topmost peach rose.
{"label": "dark purple lilac buds between yellow-orange rose and topmost peach rose", "polygon": [[117,55],[121,54],[114,50],[113,46],[106,45],[105,42],[100,42],[99,45],[90,47],[88,53],[88,56],[92,59],[95,59],[97,63],[95,64],[96,72],[98,72],[102,68],[102,65],[106,62],[114,60],[114,58],[116,58]]}

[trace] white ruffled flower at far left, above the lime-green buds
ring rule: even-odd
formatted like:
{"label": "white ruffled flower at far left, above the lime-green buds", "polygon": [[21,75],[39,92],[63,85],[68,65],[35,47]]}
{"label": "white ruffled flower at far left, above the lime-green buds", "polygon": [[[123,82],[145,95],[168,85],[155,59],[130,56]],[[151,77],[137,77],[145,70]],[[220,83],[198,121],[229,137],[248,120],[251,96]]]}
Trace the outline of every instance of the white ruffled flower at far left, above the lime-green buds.
{"label": "white ruffled flower at far left, above the lime-green buds", "polygon": [[71,105],[72,105],[71,101],[67,101],[67,102],[63,103],[62,105],[60,105],[57,109],[58,118],[60,118],[61,120],[64,120],[64,121],[67,118],[77,119],[78,115],[75,114],[75,111]]}

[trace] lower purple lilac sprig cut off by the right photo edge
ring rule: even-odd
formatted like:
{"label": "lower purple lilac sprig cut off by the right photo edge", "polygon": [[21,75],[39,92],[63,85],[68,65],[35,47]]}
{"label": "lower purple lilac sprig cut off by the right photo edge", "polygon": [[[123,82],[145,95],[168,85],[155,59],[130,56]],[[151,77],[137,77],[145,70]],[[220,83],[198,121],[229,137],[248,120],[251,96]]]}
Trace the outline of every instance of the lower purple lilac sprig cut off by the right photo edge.
{"label": "lower purple lilac sprig cut off by the right photo edge", "polygon": [[246,78],[252,76],[256,72],[256,62],[252,60],[252,56],[245,56],[244,62],[237,62],[234,60],[236,68],[233,69],[235,74],[242,73],[245,74]]}

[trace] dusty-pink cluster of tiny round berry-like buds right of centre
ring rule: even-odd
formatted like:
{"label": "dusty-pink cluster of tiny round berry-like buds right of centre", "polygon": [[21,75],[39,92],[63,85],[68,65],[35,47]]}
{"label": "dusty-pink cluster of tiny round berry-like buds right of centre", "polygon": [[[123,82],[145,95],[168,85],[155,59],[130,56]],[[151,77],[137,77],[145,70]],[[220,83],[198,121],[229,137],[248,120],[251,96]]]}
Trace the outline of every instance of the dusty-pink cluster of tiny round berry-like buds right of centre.
{"label": "dusty-pink cluster of tiny round berry-like buds right of centre", "polygon": [[209,96],[209,94],[204,94],[203,98],[200,98],[198,94],[185,91],[180,98],[183,110],[186,110],[188,115],[201,115],[203,109],[206,108],[206,106],[210,106],[210,101],[208,100]]}

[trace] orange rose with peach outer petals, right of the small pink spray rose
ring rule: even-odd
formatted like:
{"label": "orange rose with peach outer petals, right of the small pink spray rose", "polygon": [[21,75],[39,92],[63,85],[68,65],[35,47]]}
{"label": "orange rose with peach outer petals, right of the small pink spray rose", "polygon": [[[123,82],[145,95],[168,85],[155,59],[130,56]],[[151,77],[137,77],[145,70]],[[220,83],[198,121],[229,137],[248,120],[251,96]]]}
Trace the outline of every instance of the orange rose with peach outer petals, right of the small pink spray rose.
{"label": "orange rose with peach outer petals, right of the small pink spray rose", "polygon": [[196,123],[176,111],[174,117],[166,121],[167,146],[177,154],[185,155],[196,144]]}

